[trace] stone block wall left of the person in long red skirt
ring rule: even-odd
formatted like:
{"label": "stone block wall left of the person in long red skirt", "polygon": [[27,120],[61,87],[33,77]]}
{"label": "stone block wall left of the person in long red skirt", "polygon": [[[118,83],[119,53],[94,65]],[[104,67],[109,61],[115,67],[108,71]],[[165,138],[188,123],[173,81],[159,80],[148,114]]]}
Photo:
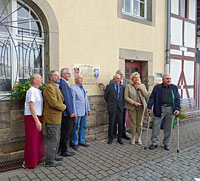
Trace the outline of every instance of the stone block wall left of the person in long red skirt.
{"label": "stone block wall left of the person in long red skirt", "polygon": [[23,158],[24,104],[0,102],[0,160]]}

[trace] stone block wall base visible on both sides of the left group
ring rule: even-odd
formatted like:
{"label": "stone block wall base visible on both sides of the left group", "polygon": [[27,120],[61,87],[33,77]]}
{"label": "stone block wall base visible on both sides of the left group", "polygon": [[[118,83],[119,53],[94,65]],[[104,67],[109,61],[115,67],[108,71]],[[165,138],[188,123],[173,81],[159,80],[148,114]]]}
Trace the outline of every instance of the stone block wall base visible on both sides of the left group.
{"label": "stone block wall base visible on both sides of the left group", "polygon": [[[86,140],[107,137],[108,115],[103,96],[90,96],[91,115],[87,119]],[[44,133],[45,134],[45,133]],[[0,102],[0,161],[24,156],[24,103]]]}

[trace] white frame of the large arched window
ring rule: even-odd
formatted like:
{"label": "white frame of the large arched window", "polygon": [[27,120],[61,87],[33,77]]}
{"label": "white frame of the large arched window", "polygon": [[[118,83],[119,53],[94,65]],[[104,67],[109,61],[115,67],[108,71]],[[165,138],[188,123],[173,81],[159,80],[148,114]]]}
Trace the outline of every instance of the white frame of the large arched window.
{"label": "white frame of the large arched window", "polygon": [[[11,0],[11,12],[16,11],[17,7],[18,7],[18,2],[22,5],[24,5],[26,8],[29,9],[28,13],[29,16],[31,15],[31,12],[34,13],[34,15],[37,17],[37,22],[40,23],[40,27],[41,27],[41,37],[39,36],[34,36],[31,35],[30,36],[26,35],[23,37],[23,43],[33,43],[34,41],[37,41],[37,46],[41,45],[41,57],[42,57],[42,77],[43,80],[45,81],[45,33],[44,33],[44,25],[42,23],[42,20],[40,19],[40,16],[37,14],[37,12],[35,10],[33,10],[33,8],[28,5],[26,2],[24,2],[23,0]],[[12,35],[12,41],[13,41],[13,45],[11,47],[11,62],[10,62],[10,79],[11,79],[11,89],[13,88],[13,85],[19,81],[20,79],[20,74],[19,74],[19,68],[21,68],[21,66],[18,66],[17,64],[18,59],[18,47],[16,48],[15,46],[18,45],[19,43],[21,43],[22,41],[22,35],[18,33],[18,25],[17,25],[17,20],[18,20],[18,13],[12,13],[12,27],[10,27],[11,29],[6,32],[1,31],[0,32],[0,40],[8,40],[8,36],[9,34]],[[30,26],[31,22],[29,22],[29,26]],[[29,29],[31,31],[31,29]],[[40,31],[40,30],[39,30]],[[11,40],[9,40],[11,41]],[[16,53],[14,52],[14,48],[16,48]],[[16,60],[16,61],[12,61],[12,60]],[[24,65],[22,65],[24,66]],[[31,67],[30,67],[31,68]],[[24,75],[25,76],[25,75]],[[26,79],[26,77],[25,77]],[[8,96],[10,95],[9,91],[0,91],[0,100],[8,100]]]}

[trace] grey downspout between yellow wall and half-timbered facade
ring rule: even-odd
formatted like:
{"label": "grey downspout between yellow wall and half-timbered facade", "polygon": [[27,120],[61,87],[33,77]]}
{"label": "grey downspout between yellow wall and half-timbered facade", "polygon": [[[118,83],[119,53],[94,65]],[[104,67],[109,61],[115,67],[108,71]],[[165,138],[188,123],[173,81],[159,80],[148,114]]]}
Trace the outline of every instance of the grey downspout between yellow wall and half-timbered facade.
{"label": "grey downspout between yellow wall and half-timbered facade", "polygon": [[165,64],[165,74],[169,74],[169,64],[170,64],[170,12],[171,12],[171,0],[167,0],[167,41],[166,41],[166,64]]}

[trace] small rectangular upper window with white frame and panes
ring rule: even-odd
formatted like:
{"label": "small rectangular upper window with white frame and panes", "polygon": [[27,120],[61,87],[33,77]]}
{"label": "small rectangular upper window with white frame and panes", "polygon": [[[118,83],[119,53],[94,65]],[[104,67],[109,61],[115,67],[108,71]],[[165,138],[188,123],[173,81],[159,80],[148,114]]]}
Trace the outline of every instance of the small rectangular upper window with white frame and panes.
{"label": "small rectangular upper window with white frame and panes", "polygon": [[146,1],[147,0],[122,0],[122,13],[130,16],[146,18]]}

